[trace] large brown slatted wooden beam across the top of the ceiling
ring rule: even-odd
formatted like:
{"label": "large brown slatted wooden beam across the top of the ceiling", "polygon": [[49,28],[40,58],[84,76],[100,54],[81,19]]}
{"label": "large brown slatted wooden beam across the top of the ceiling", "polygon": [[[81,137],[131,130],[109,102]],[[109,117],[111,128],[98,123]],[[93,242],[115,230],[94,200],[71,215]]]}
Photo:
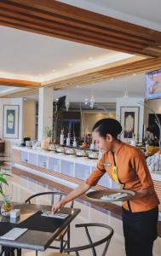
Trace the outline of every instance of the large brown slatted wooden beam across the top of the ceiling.
{"label": "large brown slatted wooden beam across the top of the ceiling", "polygon": [[135,55],[161,55],[161,32],[54,0],[0,2],[0,24]]}

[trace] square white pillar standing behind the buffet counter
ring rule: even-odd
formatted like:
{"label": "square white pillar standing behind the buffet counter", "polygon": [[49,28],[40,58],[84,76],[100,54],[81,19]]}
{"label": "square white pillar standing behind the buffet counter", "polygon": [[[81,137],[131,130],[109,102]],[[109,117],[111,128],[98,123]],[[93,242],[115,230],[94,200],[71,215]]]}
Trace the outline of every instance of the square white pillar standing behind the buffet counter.
{"label": "square white pillar standing behind the buffet counter", "polygon": [[38,141],[45,136],[45,127],[53,127],[53,88],[39,89],[38,99]]}

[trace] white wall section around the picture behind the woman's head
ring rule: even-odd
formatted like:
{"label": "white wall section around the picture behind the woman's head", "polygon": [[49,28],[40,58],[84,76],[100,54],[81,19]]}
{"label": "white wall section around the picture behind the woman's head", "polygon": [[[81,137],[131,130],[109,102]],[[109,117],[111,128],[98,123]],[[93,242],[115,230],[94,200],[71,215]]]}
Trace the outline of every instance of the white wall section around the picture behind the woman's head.
{"label": "white wall section around the picture behind the woman's head", "polygon": [[[116,105],[116,119],[120,121],[120,109],[121,107],[139,107],[139,138],[140,142],[142,139],[142,130],[143,130],[143,124],[144,124],[144,106],[139,104],[139,102],[144,102],[144,98],[128,98],[128,100],[125,100],[122,98],[117,98],[117,105]],[[124,140],[124,142],[127,142],[127,139]]]}

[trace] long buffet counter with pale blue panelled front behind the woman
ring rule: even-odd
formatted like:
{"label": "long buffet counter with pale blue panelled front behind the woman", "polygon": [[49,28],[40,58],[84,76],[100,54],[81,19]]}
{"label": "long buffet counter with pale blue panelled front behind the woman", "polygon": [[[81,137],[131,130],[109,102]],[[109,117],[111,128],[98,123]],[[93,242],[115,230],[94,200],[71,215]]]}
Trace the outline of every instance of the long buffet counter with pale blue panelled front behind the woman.
{"label": "long buffet counter with pale blue panelled front behind the woman", "polygon": [[[14,167],[21,171],[30,172],[39,177],[54,180],[57,183],[63,183],[74,189],[95,170],[98,160],[55,153],[54,151],[13,147],[13,162]],[[151,172],[151,176],[158,198],[161,201],[161,172]],[[118,189],[118,184],[104,175],[95,188]],[[159,207],[159,210],[161,211],[161,207]]]}

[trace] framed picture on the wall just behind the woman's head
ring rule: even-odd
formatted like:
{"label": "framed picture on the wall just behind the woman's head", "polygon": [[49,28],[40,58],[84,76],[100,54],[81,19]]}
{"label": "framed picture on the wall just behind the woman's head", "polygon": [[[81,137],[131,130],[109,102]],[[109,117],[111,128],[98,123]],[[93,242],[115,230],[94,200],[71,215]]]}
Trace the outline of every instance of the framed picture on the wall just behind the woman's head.
{"label": "framed picture on the wall just behind the woman's head", "polygon": [[121,140],[127,142],[139,133],[139,107],[121,107],[120,123],[123,127]]}

